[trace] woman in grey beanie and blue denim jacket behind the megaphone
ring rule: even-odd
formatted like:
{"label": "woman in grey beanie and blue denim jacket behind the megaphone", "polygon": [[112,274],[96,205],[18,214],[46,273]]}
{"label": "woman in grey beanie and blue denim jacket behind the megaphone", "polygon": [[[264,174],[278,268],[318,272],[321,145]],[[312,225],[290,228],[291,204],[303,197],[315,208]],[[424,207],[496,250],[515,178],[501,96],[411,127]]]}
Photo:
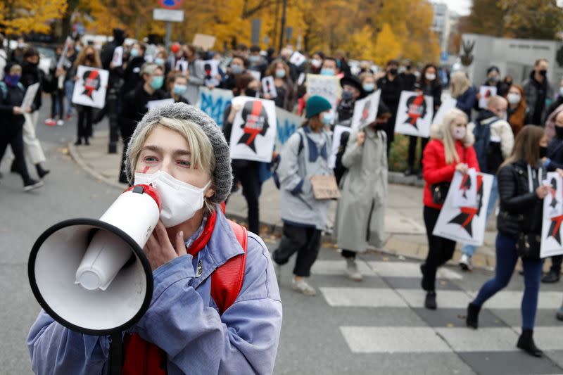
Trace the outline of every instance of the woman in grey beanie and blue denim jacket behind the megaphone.
{"label": "woman in grey beanie and blue denim jacket behind the megaphone", "polygon": [[[158,191],[161,210],[143,249],[152,300],[124,335],[122,374],[271,374],[279,290],[260,237],[239,239],[219,208],[232,184],[219,127],[184,103],[153,109],[137,125],[125,165],[131,184]],[[221,270],[241,256],[238,295],[227,292],[225,302],[217,286],[232,280]],[[27,343],[37,374],[106,374],[112,360],[108,336],[72,331],[44,311]]]}

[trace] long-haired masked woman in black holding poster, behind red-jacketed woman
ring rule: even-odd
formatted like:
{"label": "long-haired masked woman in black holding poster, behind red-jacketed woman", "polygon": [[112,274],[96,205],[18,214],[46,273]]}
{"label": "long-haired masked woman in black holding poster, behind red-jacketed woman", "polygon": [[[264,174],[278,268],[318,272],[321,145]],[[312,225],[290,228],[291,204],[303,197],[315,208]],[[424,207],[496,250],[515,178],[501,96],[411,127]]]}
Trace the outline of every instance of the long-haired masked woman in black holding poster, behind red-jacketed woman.
{"label": "long-haired masked woman in black holding poster, behind red-jacketed woman", "polygon": [[[410,68],[410,65],[407,65]],[[410,69],[409,69],[410,70]],[[407,70],[407,71],[409,71]],[[422,89],[422,94],[432,96],[434,102],[434,113],[438,111],[438,108],[442,105],[442,85],[438,80],[438,69],[434,64],[427,64],[424,69],[422,69],[422,75],[420,77],[420,89]],[[412,89],[414,89],[414,84]],[[415,158],[417,152],[417,143],[419,137],[409,136],[409,153],[407,158],[407,170],[405,171],[405,176],[410,176],[415,173]],[[428,138],[420,138],[420,168],[419,168],[419,178],[422,178],[422,153],[424,152],[424,147],[428,143]]]}

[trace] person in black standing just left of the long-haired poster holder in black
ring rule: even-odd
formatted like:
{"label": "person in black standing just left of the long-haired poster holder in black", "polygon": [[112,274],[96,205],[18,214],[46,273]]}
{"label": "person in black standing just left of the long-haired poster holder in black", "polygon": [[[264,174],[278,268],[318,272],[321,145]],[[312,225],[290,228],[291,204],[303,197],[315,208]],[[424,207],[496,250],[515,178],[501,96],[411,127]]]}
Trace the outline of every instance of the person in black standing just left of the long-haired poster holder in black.
{"label": "person in black standing just left of the long-haired poster holder in black", "polygon": [[387,62],[386,75],[377,80],[377,87],[381,89],[381,100],[389,107],[393,116],[384,127],[387,134],[387,157],[391,151],[391,144],[395,139],[395,120],[397,110],[399,108],[400,93],[403,91],[405,84],[398,77],[399,62],[390,60]]}

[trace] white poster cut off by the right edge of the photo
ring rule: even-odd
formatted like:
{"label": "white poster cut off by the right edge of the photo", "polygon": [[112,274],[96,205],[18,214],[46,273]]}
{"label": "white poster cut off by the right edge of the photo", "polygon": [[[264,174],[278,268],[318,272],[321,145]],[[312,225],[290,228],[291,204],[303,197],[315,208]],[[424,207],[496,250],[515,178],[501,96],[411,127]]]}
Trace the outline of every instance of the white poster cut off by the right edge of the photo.
{"label": "white poster cut off by the right edge of the photo", "polygon": [[546,258],[563,254],[563,179],[557,172],[548,173],[545,182],[552,188],[543,198],[543,222],[541,226],[540,257]]}

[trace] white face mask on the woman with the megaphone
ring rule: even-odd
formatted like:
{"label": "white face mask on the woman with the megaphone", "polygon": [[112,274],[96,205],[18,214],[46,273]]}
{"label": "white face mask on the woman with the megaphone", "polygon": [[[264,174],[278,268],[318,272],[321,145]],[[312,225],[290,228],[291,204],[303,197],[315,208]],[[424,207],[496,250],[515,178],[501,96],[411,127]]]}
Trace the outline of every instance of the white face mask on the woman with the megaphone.
{"label": "white face mask on the woman with the megaphone", "polygon": [[158,191],[162,201],[160,220],[166,228],[170,228],[191,219],[201,210],[203,194],[211,182],[200,189],[159,170],[156,173],[135,173],[134,184],[151,185]]}

